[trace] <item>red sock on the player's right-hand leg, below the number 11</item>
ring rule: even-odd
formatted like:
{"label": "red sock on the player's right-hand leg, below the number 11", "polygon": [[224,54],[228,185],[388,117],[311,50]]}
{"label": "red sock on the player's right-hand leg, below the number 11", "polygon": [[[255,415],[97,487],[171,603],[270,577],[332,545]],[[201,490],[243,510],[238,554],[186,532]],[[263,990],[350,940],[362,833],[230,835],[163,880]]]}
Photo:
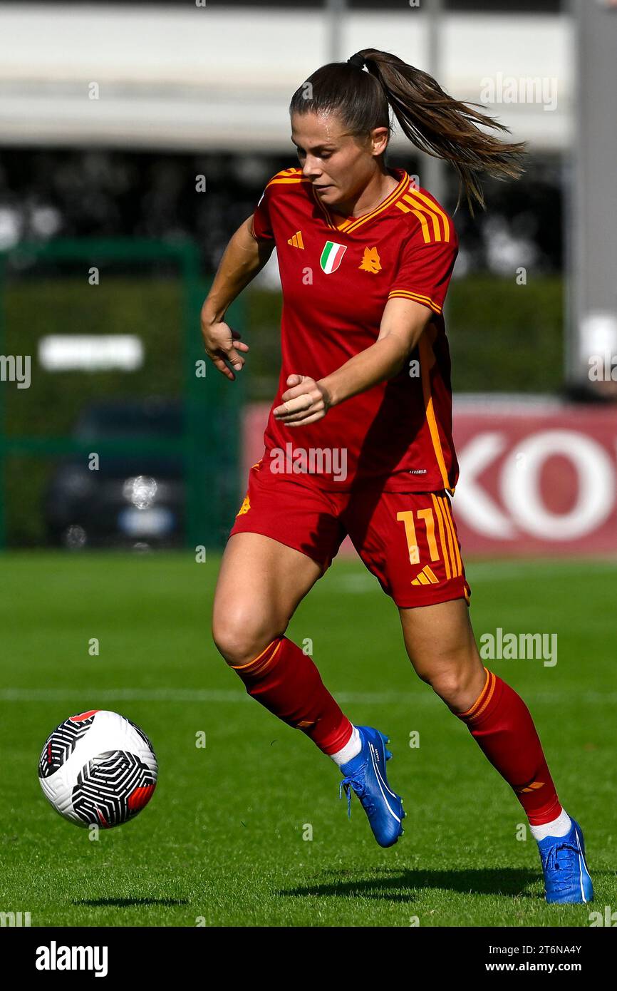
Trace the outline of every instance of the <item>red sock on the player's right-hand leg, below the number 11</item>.
{"label": "red sock on the player's right-hand leg, below the number 11", "polygon": [[487,668],[484,688],[466,713],[471,736],[514,789],[532,826],[562,812],[531,714],[520,695]]}

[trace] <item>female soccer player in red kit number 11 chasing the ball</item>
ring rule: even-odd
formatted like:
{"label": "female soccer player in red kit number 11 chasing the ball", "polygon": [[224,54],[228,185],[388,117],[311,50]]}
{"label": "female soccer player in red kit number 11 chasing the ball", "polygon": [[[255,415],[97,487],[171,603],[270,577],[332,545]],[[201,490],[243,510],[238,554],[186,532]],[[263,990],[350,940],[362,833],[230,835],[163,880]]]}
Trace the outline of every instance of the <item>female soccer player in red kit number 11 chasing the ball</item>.
{"label": "female soccer player in red kit number 11 chasing the ball", "polygon": [[520,174],[521,146],[477,125],[507,128],[395,55],[367,49],[324,65],[293,94],[300,165],[267,183],[202,308],[206,352],[234,380],[249,347],[225,313],[276,247],[282,367],[223,557],[213,637],[249,695],[340,767],[348,813],[353,789],[377,842],[395,843],[405,814],[386,777],[386,735],[354,725],[285,636],[349,534],[398,606],[416,673],[525,810],[547,900],[587,902],[580,826],[560,804],[527,706],[482,665],[468,618],[443,316],[459,243],[435,197],[387,167],[390,111],[416,147],[454,165],[469,207],[470,197],[483,206],[478,173]]}

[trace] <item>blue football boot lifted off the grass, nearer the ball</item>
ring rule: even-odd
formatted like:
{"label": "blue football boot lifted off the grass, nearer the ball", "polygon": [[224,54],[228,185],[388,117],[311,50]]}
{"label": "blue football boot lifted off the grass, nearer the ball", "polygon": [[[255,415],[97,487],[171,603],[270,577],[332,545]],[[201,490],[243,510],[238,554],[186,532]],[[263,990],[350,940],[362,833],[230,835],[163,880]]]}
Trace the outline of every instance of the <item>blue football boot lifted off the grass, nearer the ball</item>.
{"label": "blue football boot lifted off the grass, nearer the ball", "polygon": [[387,783],[385,762],[392,754],[386,750],[388,737],[372,726],[357,726],[362,748],[356,757],[341,765],[345,775],[339,785],[339,798],[345,788],[348,816],[352,816],[353,788],[368,817],[368,824],[379,846],[392,846],[403,834],[401,821],[405,817],[403,801]]}

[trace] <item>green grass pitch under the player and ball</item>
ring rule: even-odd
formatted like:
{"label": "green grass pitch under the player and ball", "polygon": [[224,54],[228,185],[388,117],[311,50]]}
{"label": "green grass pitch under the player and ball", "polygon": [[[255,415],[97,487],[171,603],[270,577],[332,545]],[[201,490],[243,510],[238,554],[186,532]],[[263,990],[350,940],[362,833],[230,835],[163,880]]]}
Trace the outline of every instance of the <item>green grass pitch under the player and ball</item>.
{"label": "green grass pitch under the player and ball", "polygon": [[[390,735],[407,819],[387,850],[355,796],[348,820],[334,763],[217,653],[218,567],[188,553],[0,558],[0,910],[30,912],[32,926],[586,927],[617,905],[614,562],[466,569],[476,639],[498,626],[559,637],[554,667],[486,662],[527,702],[585,832],[595,903],[557,907],[519,803],[414,674],[396,609],[361,564],[335,561],[287,632],[313,641],[347,715]],[[159,763],[151,804],[96,841],[53,812],[37,779],[48,733],[88,709],[136,721]]]}

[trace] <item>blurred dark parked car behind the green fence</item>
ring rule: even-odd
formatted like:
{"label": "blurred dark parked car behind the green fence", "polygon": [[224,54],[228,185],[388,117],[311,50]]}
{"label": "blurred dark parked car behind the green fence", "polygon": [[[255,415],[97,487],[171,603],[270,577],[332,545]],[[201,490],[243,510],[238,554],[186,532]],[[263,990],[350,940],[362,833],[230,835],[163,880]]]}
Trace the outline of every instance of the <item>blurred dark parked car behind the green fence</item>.
{"label": "blurred dark parked car behind the green fence", "polygon": [[182,406],[168,399],[96,402],[81,412],[73,436],[98,452],[102,441],[131,441],[130,453],[101,448],[99,467],[87,454],[63,459],[51,478],[44,514],[49,541],[81,547],[176,547],[184,528],[181,454],[140,450],[144,440],[178,441]]}

